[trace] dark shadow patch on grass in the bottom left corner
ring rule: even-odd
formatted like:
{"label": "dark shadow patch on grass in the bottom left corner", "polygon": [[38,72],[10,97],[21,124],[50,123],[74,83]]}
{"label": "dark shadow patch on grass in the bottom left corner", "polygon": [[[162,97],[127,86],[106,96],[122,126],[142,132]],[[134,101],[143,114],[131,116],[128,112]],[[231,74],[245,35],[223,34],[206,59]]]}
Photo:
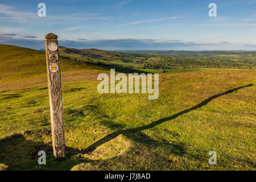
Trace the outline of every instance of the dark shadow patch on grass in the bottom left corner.
{"label": "dark shadow patch on grass in the bottom left corner", "polygon": [[[44,133],[51,135],[51,130],[26,131],[24,134],[14,134],[0,140],[0,171],[1,170],[67,170],[81,163],[80,159],[71,159],[76,155],[76,149],[66,147],[66,161],[55,160],[52,144],[34,140],[27,137]],[[40,137],[40,136],[39,136]],[[38,164],[38,152],[46,152],[47,165]],[[5,166],[3,166],[3,164]]]}

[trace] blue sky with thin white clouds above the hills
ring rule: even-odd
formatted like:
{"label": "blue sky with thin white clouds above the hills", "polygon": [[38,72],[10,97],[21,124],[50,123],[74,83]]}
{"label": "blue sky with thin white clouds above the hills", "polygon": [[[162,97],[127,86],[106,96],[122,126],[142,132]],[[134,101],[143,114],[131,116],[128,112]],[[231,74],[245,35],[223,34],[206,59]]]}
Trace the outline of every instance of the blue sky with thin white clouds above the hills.
{"label": "blue sky with thin white clouds above the hills", "polygon": [[256,50],[256,0],[0,0],[0,44],[41,49],[49,32],[72,48]]}

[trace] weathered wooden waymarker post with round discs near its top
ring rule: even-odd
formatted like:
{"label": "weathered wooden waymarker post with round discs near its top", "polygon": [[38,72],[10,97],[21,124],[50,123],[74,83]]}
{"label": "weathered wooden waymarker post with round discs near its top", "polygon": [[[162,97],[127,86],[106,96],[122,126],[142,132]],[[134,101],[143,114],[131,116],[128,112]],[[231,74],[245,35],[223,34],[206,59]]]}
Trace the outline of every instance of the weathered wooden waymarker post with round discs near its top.
{"label": "weathered wooden waymarker post with round discs near its top", "polygon": [[60,61],[57,35],[49,33],[46,38],[46,63],[49,89],[49,106],[52,126],[52,147],[55,158],[65,157]]}

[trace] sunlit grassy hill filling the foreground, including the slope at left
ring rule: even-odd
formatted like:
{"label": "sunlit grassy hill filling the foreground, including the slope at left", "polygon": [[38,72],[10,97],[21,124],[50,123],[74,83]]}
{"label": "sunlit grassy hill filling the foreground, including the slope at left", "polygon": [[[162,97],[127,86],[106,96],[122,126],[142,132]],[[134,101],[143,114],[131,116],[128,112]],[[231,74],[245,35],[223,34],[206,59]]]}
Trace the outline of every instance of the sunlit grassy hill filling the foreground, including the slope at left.
{"label": "sunlit grassy hill filling the foreground, including the slope at left", "polygon": [[[97,75],[108,67],[61,58],[66,159],[59,162],[44,52],[8,49],[0,54],[2,170],[256,169],[254,69],[167,69],[159,74],[158,100],[148,100],[99,94]],[[40,150],[46,165],[38,165]],[[208,164],[209,151],[217,152],[217,165]]]}

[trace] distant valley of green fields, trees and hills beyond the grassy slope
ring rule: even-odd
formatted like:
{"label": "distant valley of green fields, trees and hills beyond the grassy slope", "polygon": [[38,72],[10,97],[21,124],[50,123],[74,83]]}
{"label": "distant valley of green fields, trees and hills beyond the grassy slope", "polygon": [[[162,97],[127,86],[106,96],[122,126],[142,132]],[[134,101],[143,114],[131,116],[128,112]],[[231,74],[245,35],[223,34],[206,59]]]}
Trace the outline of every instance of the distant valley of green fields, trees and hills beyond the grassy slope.
{"label": "distant valley of green fields, trees and hills beyond the grassy slope", "polygon": [[256,69],[256,51],[102,51],[60,47],[60,55],[82,62],[133,69]]}

